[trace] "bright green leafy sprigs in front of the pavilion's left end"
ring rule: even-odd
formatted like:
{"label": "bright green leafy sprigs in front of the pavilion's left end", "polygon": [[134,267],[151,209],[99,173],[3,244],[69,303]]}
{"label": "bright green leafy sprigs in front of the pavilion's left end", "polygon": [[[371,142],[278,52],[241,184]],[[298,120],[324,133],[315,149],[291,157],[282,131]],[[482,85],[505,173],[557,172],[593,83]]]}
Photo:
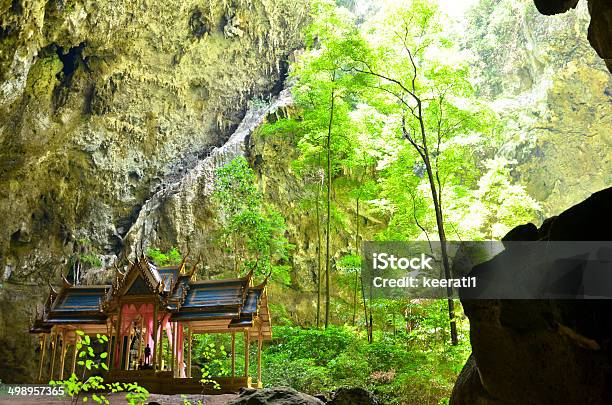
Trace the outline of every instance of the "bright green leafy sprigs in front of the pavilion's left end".
{"label": "bright green leafy sprigs in front of the pavilion's left end", "polygon": [[[76,344],[79,358],[77,364],[83,367],[81,378],[72,373],[66,380],[49,381],[49,385],[63,386],[66,393],[72,397],[75,403],[81,398],[83,402],[88,402],[91,399],[98,404],[109,404],[106,396],[106,393],[109,392],[125,392],[125,399],[130,405],[143,405],[146,403],[149,398],[149,392],[137,383],[105,383],[104,378],[99,375],[90,375],[85,378],[86,371],[91,372],[99,369],[108,371],[106,365],[108,353],[102,352],[96,355],[92,347],[91,338],[81,330],[77,330],[76,334],[79,338]],[[96,341],[100,345],[106,345],[108,343],[108,336],[97,334]]]}

